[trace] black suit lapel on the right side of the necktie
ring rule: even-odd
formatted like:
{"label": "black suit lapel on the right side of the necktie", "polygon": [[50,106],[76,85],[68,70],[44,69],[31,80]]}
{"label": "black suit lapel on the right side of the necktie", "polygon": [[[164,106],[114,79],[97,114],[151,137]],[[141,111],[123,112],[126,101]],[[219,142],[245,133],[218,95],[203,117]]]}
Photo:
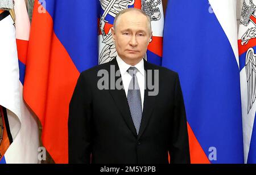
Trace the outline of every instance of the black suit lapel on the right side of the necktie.
{"label": "black suit lapel on the right side of the necktie", "polygon": [[[154,69],[150,67],[150,65],[147,63],[147,61],[144,60],[144,70],[146,70],[145,77],[145,86],[146,89],[144,90],[144,104],[143,104],[143,113],[142,113],[142,121],[141,121],[141,127],[139,129],[138,139],[141,138],[144,130],[146,129],[146,126],[148,124],[148,121],[150,120],[151,114],[154,110],[154,104],[156,96],[148,96],[148,87],[147,87],[147,70]],[[154,76],[153,76],[154,77]]]}

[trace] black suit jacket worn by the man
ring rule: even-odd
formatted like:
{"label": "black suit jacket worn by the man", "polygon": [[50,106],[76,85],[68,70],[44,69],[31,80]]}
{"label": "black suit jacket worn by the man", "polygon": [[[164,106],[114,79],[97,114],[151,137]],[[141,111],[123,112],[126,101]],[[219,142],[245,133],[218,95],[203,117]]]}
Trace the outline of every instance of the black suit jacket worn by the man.
{"label": "black suit jacket worn by the man", "polygon": [[168,152],[171,163],[190,163],[187,120],[177,73],[144,61],[146,71],[159,70],[159,93],[148,96],[149,89],[145,89],[137,135],[125,90],[97,88],[102,78],[97,76],[98,71],[110,73],[110,65],[119,70],[113,59],[82,72],[77,80],[69,104],[69,163],[164,164],[168,163]]}

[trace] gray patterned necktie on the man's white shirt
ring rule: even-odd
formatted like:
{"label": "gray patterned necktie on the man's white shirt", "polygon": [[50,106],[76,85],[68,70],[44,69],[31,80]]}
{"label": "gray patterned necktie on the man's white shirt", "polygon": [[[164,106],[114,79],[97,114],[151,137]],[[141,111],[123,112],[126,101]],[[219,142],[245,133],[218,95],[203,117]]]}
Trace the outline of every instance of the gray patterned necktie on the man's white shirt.
{"label": "gray patterned necktie on the man's white shirt", "polygon": [[127,72],[132,77],[128,88],[127,100],[130,107],[131,118],[133,118],[133,123],[138,134],[142,118],[141,92],[139,91],[139,83],[136,76],[138,69],[136,67],[130,67]]}

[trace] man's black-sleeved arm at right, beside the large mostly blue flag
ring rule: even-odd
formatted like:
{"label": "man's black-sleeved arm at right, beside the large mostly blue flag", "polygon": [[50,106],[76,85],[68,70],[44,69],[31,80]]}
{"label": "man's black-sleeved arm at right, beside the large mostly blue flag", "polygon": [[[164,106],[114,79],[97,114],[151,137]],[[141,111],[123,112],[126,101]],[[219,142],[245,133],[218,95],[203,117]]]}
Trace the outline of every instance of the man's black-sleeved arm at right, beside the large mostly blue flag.
{"label": "man's black-sleeved arm at right, beside the large mostly blue flag", "polygon": [[190,163],[187,118],[179,76],[175,78],[174,115],[171,126],[171,146],[169,149],[171,163]]}

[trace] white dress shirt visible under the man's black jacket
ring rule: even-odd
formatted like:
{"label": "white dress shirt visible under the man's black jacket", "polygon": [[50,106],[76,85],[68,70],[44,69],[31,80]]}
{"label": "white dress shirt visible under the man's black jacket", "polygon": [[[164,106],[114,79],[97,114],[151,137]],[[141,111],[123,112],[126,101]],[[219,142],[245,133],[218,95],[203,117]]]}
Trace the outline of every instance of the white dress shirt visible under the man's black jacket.
{"label": "white dress shirt visible under the man's black jacket", "polygon": [[119,70],[120,70],[120,73],[121,73],[123,87],[125,88],[126,97],[127,97],[127,94],[128,94],[129,84],[131,82],[131,79],[133,78],[127,72],[127,70],[130,67],[136,67],[139,70],[136,73],[136,76],[137,76],[137,80],[138,80],[138,83],[139,83],[139,90],[141,92],[141,104],[142,104],[142,110],[143,110],[144,83],[145,83],[145,79],[144,79],[144,61],[143,61],[143,59],[141,59],[141,61],[139,63],[137,63],[137,65],[131,66],[131,65],[128,65],[126,62],[124,62],[119,56],[117,56],[117,63],[118,63],[118,67],[119,67]]}

